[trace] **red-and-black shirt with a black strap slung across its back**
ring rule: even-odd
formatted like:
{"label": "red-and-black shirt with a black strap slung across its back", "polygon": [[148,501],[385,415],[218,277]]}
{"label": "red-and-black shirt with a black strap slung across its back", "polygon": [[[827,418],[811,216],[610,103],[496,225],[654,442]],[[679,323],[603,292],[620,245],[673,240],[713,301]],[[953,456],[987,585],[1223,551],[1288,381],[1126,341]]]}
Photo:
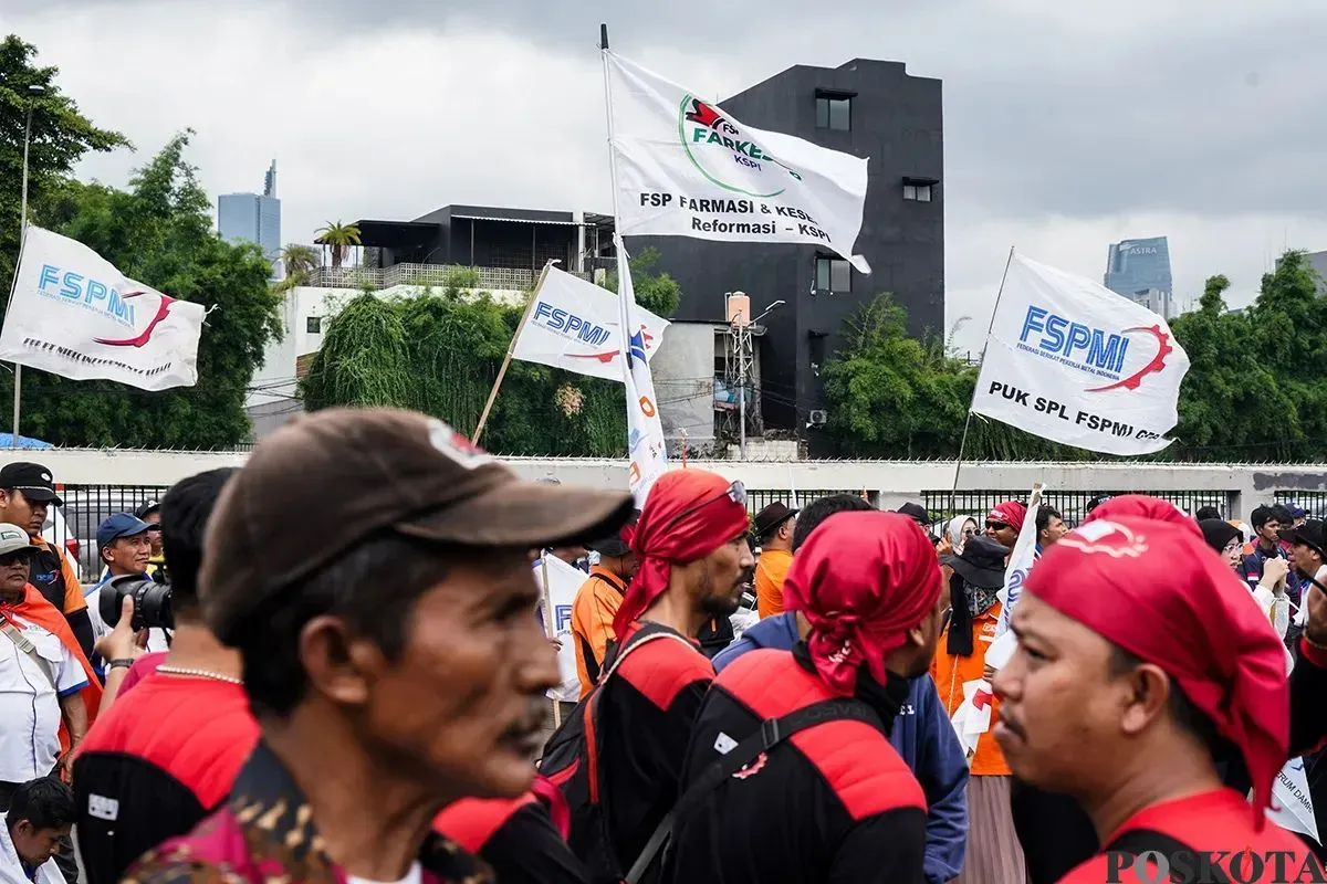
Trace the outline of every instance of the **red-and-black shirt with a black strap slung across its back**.
{"label": "red-and-black shirt with a black strap slung across its back", "polygon": [[[803,656],[798,656],[799,652]],[[926,798],[889,744],[904,679],[859,675],[867,721],[831,718],[760,753],[674,820],[674,881],[912,884],[925,881]],[[768,718],[832,700],[798,651],[752,651],[719,673],[691,733],[683,789]],[[869,720],[878,721],[878,726]]]}

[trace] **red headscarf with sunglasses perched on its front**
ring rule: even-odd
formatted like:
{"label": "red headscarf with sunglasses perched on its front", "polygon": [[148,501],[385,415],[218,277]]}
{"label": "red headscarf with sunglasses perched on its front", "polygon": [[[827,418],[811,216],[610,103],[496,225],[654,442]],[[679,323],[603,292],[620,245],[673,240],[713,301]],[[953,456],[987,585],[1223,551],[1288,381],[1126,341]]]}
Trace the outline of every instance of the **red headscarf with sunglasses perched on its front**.
{"label": "red headscarf with sunglasses perched on its front", "polygon": [[630,533],[640,569],[613,618],[618,637],[667,588],[673,562],[705,558],[747,530],[746,504],[729,497],[731,488],[733,482],[703,469],[675,469],[654,482]]}

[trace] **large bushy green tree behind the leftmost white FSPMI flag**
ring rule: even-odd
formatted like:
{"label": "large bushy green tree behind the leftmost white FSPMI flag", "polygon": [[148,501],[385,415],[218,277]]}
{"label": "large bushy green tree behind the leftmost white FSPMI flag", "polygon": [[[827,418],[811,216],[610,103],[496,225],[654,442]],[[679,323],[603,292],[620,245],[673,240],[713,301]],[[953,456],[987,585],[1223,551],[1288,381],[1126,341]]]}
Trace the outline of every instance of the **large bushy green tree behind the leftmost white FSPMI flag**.
{"label": "large bushy green tree behind the leftmost white FSPMI flag", "polygon": [[66,180],[33,211],[42,227],[84,243],[125,276],[207,305],[198,384],[149,392],[24,372],[23,432],[61,445],[129,448],[223,448],[249,436],[244,399],[267,342],[281,334],[280,298],[256,245],[230,245],[214,233],[211,200],[184,160],[188,135],[173,138],[126,191]]}

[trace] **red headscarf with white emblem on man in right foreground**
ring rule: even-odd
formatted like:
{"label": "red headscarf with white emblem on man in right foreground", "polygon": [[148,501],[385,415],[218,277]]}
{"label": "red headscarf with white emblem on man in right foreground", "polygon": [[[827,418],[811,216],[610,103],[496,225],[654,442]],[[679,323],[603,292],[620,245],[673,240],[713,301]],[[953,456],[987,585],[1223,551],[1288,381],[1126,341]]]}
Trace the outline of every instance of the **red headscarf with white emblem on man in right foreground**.
{"label": "red headscarf with white emblem on man in right foreground", "polygon": [[1202,534],[1158,521],[1097,518],[1052,546],[1026,588],[1174,679],[1239,747],[1261,830],[1290,744],[1286,652]]}

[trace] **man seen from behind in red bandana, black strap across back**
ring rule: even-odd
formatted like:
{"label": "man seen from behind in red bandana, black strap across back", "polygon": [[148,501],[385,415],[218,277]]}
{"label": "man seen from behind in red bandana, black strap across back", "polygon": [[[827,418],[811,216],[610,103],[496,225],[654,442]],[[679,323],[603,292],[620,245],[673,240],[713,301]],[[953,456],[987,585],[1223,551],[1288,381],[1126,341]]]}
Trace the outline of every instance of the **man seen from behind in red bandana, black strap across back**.
{"label": "man seen from behind in red bandana, black strap across back", "polygon": [[839,513],[811,533],[783,587],[811,632],[791,652],[743,655],[710,688],[670,880],[926,880],[926,799],[889,732],[936,651],[941,583],[930,539],[905,516]]}

